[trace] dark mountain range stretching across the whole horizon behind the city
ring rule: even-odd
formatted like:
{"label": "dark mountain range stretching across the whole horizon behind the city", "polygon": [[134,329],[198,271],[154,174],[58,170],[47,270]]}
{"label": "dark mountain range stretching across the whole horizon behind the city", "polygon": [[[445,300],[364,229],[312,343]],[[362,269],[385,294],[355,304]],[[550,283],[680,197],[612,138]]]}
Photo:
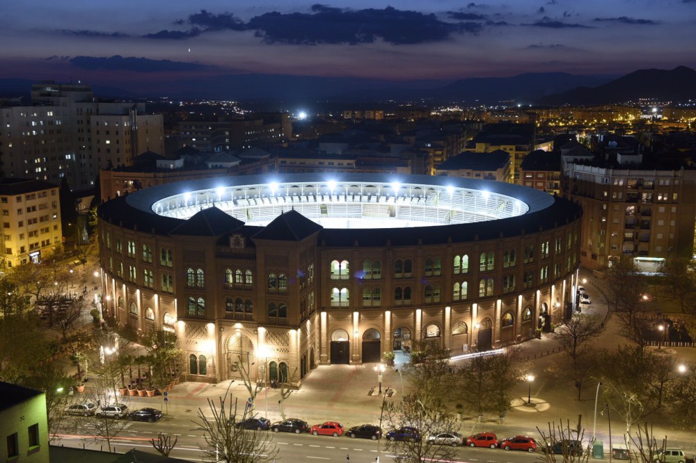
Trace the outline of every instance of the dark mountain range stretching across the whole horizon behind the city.
{"label": "dark mountain range stretching across the whole horizon behind the city", "polygon": [[[638,70],[626,76],[580,76],[562,72],[519,74],[513,77],[470,78],[457,81],[420,80],[393,82],[347,77],[243,74],[162,81],[159,95],[145,95],[136,88],[93,84],[98,97],[160,97],[171,99],[233,99],[305,104],[333,101],[374,104],[377,101],[464,102],[498,104],[610,104],[638,98],[661,101],[696,97],[696,71],[679,66],[673,70]],[[0,97],[26,96],[33,81],[0,79]],[[27,100],[28,101],[28,100]]]}

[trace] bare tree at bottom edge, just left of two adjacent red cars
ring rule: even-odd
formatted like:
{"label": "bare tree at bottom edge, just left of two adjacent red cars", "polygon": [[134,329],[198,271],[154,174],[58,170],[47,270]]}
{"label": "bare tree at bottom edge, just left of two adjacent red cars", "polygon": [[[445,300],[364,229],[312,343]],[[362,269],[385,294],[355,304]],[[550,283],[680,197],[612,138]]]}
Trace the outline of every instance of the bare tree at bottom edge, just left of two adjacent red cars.
{"label": "bare tree at bottom edge, just left of two adjacent red cars", "polygon": [[418,430],[416,438],[387,441],[386,449],[397,455],[397,463],[452,461],[457,456],[457,451],[451,445],[428,439],[438,433],[454,432],[459,428],[457,419],[447,411],[440,398],[427,397],[419,391],[405,396],[400,403],[386,406],[383,413],[386,413],[384,423],[390,428],[408,426]]}

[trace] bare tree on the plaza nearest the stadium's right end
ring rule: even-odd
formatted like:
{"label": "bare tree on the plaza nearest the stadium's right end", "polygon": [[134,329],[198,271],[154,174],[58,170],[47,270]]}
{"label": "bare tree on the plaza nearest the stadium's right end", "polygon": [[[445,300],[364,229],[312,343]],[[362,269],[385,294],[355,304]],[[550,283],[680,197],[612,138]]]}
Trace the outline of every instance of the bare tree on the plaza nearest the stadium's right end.
{"label": "bare tree on the plaza nearest the stadium's right end", "polygon": [[[574,382],[578,390],[578,400],[582,397],[583,382],[594,366],[592,341],[600,332],[601,318],[599,316],[575,314],[553,333],[553,338],[565,353],[558,363],[569,379]],[[570,362],[567,357],[570,357]]]}

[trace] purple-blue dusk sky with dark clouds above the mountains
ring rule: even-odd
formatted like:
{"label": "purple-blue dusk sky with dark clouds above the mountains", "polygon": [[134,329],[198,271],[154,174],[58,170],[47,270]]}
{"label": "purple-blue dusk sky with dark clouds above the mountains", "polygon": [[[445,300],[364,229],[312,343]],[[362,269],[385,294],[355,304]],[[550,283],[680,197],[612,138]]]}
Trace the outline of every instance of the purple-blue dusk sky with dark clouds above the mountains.
{"label": "purple-blue dusk sky with dark clouds above the mountains", "polygon": [[696,67],[695,31],[696,0],[3,1],[0,77],[626,74]]}

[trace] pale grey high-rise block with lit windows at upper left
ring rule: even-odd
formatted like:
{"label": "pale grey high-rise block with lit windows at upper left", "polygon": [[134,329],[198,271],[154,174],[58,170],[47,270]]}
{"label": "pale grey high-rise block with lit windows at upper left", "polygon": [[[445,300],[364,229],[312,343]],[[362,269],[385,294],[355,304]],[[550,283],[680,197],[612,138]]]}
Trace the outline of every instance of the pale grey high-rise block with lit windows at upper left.
{"label": "pale grey high-rise block with lit windows at upper left", "polygon": [[0,169],[73,190],[95,186],[100,168],[129,165],[148,149],[164,152],[162,116],[144,103],[98,101],[90,86],[37,83],[31,106],[0,104]]}

